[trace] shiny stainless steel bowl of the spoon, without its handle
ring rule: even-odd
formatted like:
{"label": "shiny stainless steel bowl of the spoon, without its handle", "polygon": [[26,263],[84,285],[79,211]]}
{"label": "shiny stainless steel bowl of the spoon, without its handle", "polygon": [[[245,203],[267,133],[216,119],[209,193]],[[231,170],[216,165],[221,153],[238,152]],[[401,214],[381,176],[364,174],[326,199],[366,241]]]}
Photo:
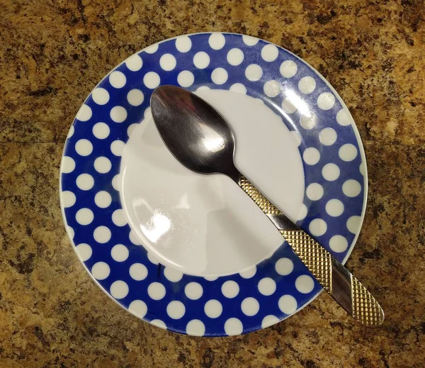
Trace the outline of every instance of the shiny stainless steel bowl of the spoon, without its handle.
{"label": "shiny stainless steel bowl of the spoon, without its handle", "polygon": [[174,86],[155,89],[151,108],[159,134],[179,162],[194,172],[239,180],[233,132],[215,108]]}

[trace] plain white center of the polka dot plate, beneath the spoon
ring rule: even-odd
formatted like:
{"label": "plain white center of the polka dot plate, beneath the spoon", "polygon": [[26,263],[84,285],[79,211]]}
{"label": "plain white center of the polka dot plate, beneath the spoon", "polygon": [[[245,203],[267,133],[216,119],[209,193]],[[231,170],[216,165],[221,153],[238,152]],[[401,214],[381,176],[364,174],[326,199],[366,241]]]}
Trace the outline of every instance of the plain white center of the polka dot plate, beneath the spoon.
{"label": "plain white center of the polka dot plate, beneath the spoon", "polygon": [[[293,221],[305,192],[295,135],[262,101],[202,90],[232,126],[235,165]],[[132,231],[168,267],[203,277],[243,272],[282,244],[280,233],[232,179],[197,174],[167,150],[150,113],[123,150],[120,196]]]}

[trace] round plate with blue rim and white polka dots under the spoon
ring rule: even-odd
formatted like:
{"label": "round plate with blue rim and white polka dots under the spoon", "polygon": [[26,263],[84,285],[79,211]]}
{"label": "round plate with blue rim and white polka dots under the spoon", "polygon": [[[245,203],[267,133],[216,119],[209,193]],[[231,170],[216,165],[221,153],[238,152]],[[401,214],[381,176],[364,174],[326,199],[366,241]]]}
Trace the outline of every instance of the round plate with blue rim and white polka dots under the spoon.
{"label": "round plate with blue rim and white polka dots under the spoon", "polygon": [[[219,175],[204,179],[179,171],[179,165],[172,166],[175,163],[164,169],[169,158],[159,151],[157,138],[149,142],[149,134],[154,134],[149,128],[149,99],[161,84],[197,91],[222,112],[235,129],[237,165],[334,257],[345,262],[356,242],[367,193],[365,155],[336,91],[310,65],[276,45],[245,35],[199,33],[165,40],[132,55],[98,84],[79,109],[60,175],[64,223],[79,259],[120,306],[177,333],[237,335],[292,316],[321,287],[288,244],[273,238],[274,233],[268,236],[265,230],[252,241],[251,236],[238,238],[240,234],[232,238],[231,230],[238,226],[232,218],[238,217],[239,207],[227,224],[220,225],[234,206],[224,212],[214,206],[236,203],[232,202],[239,201],[236,192],[229,199],[220,194],[196,207],[194,199],[210,198],[214,188],[227,192]],[[278,174],[259,175],[263,167]],[[187,189],[191,183],[206,183],[211,191],[207,195],[198,190],[200,186]],[[177,199],[178,206],[170,204]],[[188,205],[191,201],[195,204]],[[246,216],[252,211],[252,216],[260,216],[259,226],[267,226],[255,212],[258,208],[240,201]],[[171,215],[167,206],[174,206]],[[197,231],[208,206],[220,216],[205,221],[216,227]],[[191,211],[198,212],[194,216]],[[146,214],[152,216],[147,222],[142,219]],[[220,229],[228,223],[230,230],[223,235]],[[244,223],[239,226],[249,233]],[[187,242],[177,241],[181,234],[188,234]],[[232,242],[227,244],[226,237]],[[208,247],[210,240],[215,247]],[[202,243],[200,247],[196,242]],[[257,252],[256,242],[264,249],[274,243]],[[189,245],[193,252],[186,255]],[[215,257],[223,249],[229,254]]]}

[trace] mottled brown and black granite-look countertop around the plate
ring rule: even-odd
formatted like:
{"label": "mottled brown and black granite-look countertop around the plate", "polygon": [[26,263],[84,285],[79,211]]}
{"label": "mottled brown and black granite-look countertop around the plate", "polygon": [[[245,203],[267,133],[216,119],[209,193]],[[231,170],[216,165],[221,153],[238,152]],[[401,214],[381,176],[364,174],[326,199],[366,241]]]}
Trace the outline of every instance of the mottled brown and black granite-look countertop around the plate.
{"label": "mottled brown and black granite-look countertop around the plate", "polygon": [[[1,367],[424,367],[423,1],[2,1]],[[322,294],[234,338],[190,338],[126,313],[64,231],[59,165],[82,101],[111,68],[183,33],[246,33],[317,68],[357,123],[368,208],[348,267],[382,304],[367,329]]]}

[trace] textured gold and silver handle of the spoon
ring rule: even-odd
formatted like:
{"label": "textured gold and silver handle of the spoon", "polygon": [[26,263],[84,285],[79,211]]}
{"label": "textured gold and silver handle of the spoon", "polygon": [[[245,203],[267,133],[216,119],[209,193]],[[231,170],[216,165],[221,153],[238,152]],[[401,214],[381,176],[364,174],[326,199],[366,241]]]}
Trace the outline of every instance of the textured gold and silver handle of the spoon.
{"label": "textured gold and silver handle of the spoon", "polygon": [[384,321],[384,311],[378,301],[351,272],[304,230],[290,221],[256,187],[241,175],[239,186],[266,213],[283,238],[300,257],[334,300],[363,325],[374,327]]}

